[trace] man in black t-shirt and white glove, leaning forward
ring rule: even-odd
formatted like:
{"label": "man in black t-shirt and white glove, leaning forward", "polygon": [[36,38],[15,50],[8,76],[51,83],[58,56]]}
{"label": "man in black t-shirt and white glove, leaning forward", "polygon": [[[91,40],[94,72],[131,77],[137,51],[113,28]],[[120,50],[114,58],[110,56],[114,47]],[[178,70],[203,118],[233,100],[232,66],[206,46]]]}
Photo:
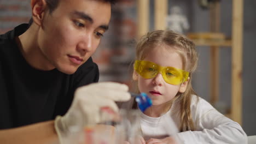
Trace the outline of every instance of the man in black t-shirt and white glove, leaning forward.
{"label": "man in black t-shirt and white glove, leaning forward", "polygon": [[31,0],[31,26],[0,35],[0,143],[64,143],[71,131],[107,120],[102,107],[117,112],[114,101],[130,99],[119,83],[84,86],[98,81],[91,55],[113,2]]}

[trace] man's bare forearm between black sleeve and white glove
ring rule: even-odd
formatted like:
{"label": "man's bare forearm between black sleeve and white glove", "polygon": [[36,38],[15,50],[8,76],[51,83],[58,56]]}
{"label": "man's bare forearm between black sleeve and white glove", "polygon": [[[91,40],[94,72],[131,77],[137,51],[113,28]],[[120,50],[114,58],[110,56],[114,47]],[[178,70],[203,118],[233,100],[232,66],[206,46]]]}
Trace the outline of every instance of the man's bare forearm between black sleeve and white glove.
{"label": "man's bare forearm between black sleeve and white glove", "polygon": [[55,144],[59,143],[54,121],[27,125],[25,127],[0,130],[0,143]]}

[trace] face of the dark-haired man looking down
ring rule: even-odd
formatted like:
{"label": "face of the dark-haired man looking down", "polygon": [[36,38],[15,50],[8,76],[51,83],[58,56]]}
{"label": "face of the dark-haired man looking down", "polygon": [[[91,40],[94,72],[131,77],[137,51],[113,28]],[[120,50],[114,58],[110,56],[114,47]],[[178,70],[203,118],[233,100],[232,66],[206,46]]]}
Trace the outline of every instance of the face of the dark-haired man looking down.
{"label": "face of the dark-haired man looking down", "polygon": [[38,45],[48,66],[73,74],[95,52],[107,30],[110,3],[95,0],[61,0],[46,11],[38,32]]}

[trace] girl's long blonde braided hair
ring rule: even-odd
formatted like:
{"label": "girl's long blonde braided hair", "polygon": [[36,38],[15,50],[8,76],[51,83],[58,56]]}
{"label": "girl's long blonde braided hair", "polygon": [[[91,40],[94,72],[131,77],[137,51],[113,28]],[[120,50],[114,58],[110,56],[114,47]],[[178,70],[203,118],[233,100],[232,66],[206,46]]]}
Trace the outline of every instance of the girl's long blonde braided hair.
{"label": "girl's long blonde braided hair", "polygon": [[[190,110],[191,95],[196,95],[191,86],[192,74],[197,67],[198,59],[195,44],[183,35],[177,34],[170,30],[148,32],[137,42],[136,59],[143,60],[147,57],[150,50],[163,44],[166,45],[163,46],[165,49],[170,49],[171,47],[171,49],[174,49],[182,57],[183,70],[189,72],[190,80],[188,82],[187,89],[184,93],[178,92],[172,101],[176,101],[180,106],[180,131],[195,130]],[[135,91],[138,92],[138,85],[136,85],[135,89]]]}

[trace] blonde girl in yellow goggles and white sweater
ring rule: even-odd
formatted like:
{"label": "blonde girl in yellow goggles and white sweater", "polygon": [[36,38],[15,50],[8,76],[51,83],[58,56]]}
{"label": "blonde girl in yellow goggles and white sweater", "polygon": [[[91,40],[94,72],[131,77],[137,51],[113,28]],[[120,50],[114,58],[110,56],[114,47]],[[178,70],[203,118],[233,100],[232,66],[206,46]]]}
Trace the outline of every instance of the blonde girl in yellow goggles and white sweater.
{"label": "blonde girl in yellow goggles and white sweater", "polygon": [[141,113],[142,143],[175,143],[172,136],[156,136],[163,130],[153,125],[170,125],[163,121],[166,116],[179,128],[176,136],[182,143],[247,143],[238,123],[194,92],[191,79],[197,59],[194,43],[173,31],[149,32],[138,41],[132,77],[136,92],[147,93],[153,101]]}

